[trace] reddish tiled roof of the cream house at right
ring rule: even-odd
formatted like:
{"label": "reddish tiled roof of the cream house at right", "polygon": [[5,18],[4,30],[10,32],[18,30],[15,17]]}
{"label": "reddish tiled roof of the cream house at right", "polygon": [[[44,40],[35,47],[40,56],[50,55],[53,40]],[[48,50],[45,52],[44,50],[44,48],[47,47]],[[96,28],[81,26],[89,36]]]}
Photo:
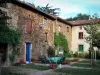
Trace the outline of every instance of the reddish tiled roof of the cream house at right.
{"label": "reddish tiled roof of the cream house at right", "polygon": [[72,26],[80,26],[93,23],[100,23],[100,18],[91,19],[91,20],[76,20],[76,21],[68,21]]}

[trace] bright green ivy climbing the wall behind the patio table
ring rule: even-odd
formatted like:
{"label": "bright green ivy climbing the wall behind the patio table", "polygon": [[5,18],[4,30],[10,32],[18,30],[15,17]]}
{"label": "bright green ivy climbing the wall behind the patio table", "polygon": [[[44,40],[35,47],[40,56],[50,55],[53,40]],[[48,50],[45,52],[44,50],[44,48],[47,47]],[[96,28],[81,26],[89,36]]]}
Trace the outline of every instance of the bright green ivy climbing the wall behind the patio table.
{"label": "bright green ivy climbing the wall behind the patio table", "polygon": [[63,47],[64,49],[64,56],[66,57],[69,51],[68,42],[64,34],[62,33],[54,33],[54,45],[57,48],[58,46]]}

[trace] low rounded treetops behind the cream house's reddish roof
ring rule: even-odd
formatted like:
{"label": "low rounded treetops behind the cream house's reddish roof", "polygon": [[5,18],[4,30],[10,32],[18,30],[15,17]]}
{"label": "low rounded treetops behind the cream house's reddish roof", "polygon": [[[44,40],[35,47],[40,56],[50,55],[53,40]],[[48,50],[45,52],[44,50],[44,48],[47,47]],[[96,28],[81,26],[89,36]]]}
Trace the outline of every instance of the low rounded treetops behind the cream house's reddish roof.
{"label": "low rounded treetops behind the cream house's reddish roof", "polygon": [[67,21],[73,21],[73,20],[88,20],[90,17],[90,15],[87,15],[87,14],[77,14],[75,17],[70,17],[70,18],[67,18],[66,20]]}

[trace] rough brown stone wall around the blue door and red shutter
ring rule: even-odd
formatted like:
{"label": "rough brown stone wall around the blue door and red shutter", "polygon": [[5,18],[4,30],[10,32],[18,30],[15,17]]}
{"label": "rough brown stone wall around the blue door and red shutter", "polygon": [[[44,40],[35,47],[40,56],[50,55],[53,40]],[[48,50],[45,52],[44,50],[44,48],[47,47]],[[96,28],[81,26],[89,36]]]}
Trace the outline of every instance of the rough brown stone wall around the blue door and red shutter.
{"label": "rough brown stone wall around the blue door and red shutter", "polygon": [[[8,4],[9,16],[12,17],[11,25],[21,31],[21,39],[18,48],[20,48],[20,56],[25,59],[25,43],[31,43],[31,58],[40,55],[47,55],[48,46],[53,46],[53,20],[40,15],[34,11],[27,10],[17,5]],[[32,32],[24,31],[25,20],[32,21]],[[44,19],[44,26],[40,23]],[[46,41],[47,34],[47,41]]]}

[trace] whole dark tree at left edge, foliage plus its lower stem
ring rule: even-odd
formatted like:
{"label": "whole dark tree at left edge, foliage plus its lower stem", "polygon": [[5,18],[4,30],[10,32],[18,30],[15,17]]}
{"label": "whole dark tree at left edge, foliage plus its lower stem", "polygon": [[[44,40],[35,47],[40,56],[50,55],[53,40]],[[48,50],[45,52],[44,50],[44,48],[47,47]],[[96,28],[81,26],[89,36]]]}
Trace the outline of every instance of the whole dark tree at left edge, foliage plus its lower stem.
{"label": "whole dark tree at left edge, foliage plus its lower stem", "polygon": [[[9,0],[10,1],[10,0]],[[7,1],[0,1],[0,7],[4,7]],[[12,56],[15,56],[13,52],[15,52],[15,46],[17,46],[20,42],[20,31],[17,29],[10,27],[11,23],[8,23],[11,17],[7,15],[7,12],[0,10],[0,44],[8,44],[12,45],[13,51]]]}

